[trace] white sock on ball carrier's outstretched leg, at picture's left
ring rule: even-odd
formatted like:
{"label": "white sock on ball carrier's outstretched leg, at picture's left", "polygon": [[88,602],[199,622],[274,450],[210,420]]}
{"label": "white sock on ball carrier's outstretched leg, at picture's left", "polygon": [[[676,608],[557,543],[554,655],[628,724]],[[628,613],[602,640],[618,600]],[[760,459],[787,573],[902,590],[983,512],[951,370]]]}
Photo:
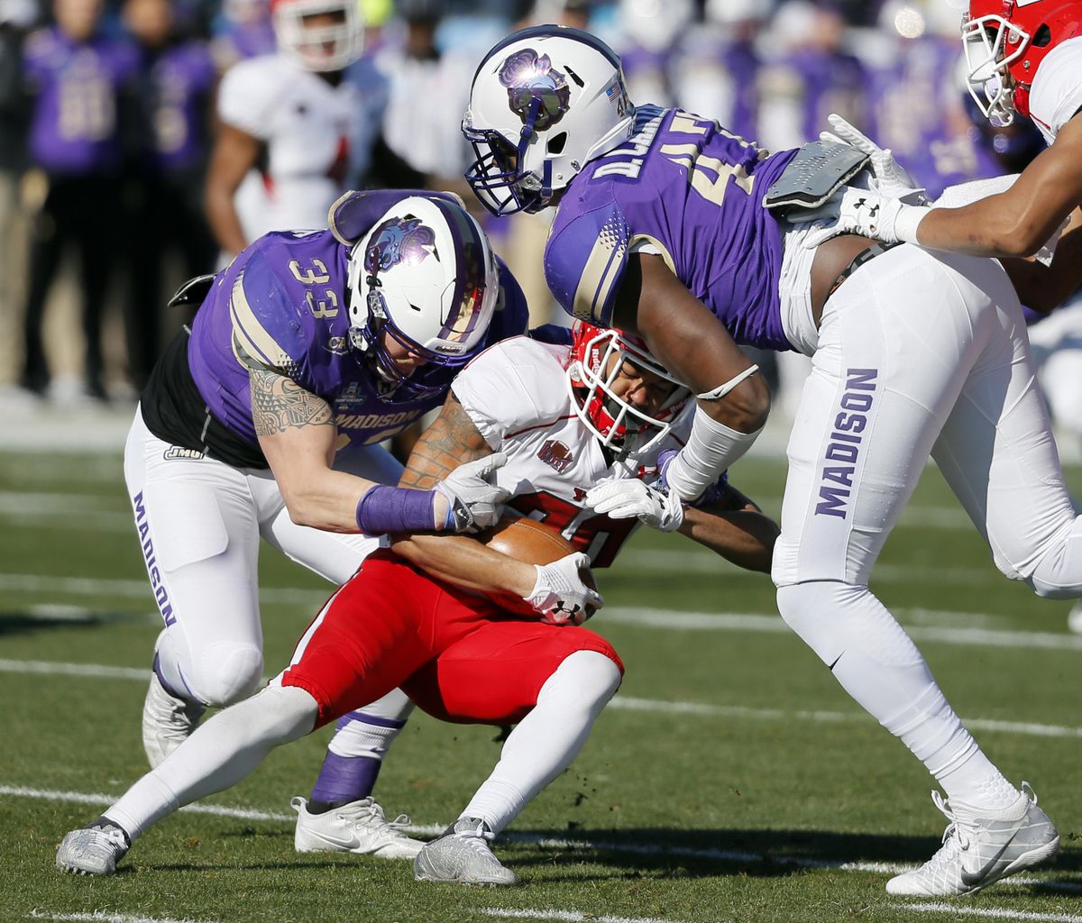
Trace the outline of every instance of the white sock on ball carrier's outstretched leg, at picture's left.
{"label": "white sock on ball carrier's outstretched leg, at picture's left", "polygon": [[318,706],[295,686],[267,686],[196,728],[104,813],[134,842],[155,821],[235,786],[281,743],[312,730]]}

